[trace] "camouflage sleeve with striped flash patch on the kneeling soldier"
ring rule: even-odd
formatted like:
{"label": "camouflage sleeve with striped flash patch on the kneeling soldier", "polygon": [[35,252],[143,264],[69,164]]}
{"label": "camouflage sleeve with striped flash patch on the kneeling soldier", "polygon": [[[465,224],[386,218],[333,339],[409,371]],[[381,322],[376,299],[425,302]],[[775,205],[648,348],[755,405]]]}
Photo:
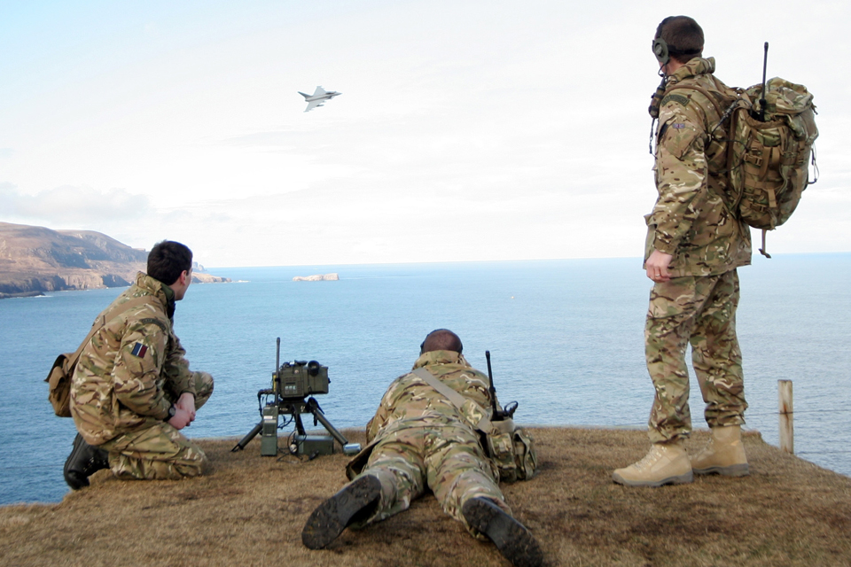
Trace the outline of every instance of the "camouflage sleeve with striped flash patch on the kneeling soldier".
{"label": "camouflage sleeve with striped flash patch on the kneeling soldier", "polygon": [[113,367],[115,396],[140,416],[164,418],[171,403],[160,387],[160,368],[168,333],[156,319],[129,323]]}

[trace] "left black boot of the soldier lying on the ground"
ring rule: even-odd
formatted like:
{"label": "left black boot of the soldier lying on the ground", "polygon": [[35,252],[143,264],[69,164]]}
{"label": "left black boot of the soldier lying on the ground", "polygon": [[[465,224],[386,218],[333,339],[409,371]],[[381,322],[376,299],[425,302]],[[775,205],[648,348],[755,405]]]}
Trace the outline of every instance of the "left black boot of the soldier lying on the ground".
{"label": "left black boot of the soldier lying on the ground", "polygon": [[346,526],[372,516],[381,498],[381,483],[370,475],[355,479],[313,510],[301,530],[301,542],[322,549],[336,540]]}

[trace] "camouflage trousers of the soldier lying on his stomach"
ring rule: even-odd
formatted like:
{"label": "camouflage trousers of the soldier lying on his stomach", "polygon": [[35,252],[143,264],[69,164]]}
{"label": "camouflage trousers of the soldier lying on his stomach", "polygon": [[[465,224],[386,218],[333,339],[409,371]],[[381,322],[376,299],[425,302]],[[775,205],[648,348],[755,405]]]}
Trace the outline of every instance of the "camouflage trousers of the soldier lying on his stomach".
{"label": "camouflage trousers of the soldier lying on his stomach", "polygon": [[475,431],[463,425],[412,427],[396,431],[373,448],[357,478],[371,475],[381,483],[375,514],[355,527],[384,520],[406,510],[429,488],[449,516],[478,536],[461,514],[465,501],[489,498],[511,514],[496,485],[499,473],[485,457]]}

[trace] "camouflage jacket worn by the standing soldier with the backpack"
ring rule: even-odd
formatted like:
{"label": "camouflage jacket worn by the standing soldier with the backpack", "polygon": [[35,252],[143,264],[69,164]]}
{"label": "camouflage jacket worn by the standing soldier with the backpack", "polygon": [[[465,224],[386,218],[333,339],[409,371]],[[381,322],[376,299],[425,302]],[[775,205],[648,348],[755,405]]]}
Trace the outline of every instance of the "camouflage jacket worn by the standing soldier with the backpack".
{"label": "camouflage jacket worn by the standing soldier with the backpack", "polygon": [[[667,88],[694,84],[735,97],[716,79],[714,58],[693,58],[668,77]],[[659,250],[674,256],[671,276],[713,276],[751,263],[750,229],[730,214],[727,190],[727,122],[698,90],[674,89],[660,105],[656,131],[659,198],[647,221],[644,260]],[[717,127],[717,128],[716,128]]]}

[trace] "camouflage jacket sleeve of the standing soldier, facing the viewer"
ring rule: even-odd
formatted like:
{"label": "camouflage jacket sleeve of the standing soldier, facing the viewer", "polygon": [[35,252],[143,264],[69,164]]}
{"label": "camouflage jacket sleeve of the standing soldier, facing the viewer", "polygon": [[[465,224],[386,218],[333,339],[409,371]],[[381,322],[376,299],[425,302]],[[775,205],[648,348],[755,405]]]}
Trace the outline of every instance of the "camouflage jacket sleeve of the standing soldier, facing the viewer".
{"label": "camouflage jacket sleeve of the standing soldier, facing the viewer", "polygon": [[659,199],[650,224],[653,248],[674,254],[707,199],[706,131],[699,117],[677,102],[660,110],[656,148]]}

